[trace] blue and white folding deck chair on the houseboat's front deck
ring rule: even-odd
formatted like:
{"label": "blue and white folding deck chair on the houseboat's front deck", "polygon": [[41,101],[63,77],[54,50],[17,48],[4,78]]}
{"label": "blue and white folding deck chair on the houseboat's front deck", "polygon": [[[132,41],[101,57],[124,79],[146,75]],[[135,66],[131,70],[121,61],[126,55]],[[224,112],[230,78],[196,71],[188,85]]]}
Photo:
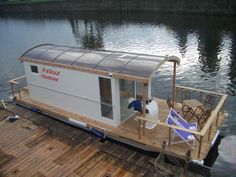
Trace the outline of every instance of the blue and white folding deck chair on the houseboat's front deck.
{"label": "blue and white folding deck chair on the houseboat's front deck", "polygon": [[[197,122],[188,123],[186,120],[184,120],[174,109],[170,109],[169,115],[167,117],[166,123],[168,125],[176,125],[182,128],[186,128],[189,130],[197,130]],[[173,131],[173,137],[171,144],[177,144],[177,143],[186,143],[191,148],[194,146],[194,141],[196,140],[195,136],[192,133],[183,131],[183,130],[177,130],[172,128]],[[176,136],[180,137],[180,141],[174,141]],[[192,142],[190,144],[189,142]]]}

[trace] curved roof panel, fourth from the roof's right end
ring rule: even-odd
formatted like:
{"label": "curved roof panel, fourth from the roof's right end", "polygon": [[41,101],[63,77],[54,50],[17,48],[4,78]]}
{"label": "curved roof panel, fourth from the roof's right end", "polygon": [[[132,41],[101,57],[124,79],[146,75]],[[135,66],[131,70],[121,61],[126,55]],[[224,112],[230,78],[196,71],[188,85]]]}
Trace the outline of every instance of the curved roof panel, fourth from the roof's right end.
{"label": "curved roof panel, fourth from the roof's right end", "polygon": [[66,51],[63,54],[59,55],[53,61],[53,63],[71,65],[75,60],[79,59],[79,57],[81,57],[85,53],[86,53],[86,51],[82,50],[82,49],[71,49],[71,50]]}

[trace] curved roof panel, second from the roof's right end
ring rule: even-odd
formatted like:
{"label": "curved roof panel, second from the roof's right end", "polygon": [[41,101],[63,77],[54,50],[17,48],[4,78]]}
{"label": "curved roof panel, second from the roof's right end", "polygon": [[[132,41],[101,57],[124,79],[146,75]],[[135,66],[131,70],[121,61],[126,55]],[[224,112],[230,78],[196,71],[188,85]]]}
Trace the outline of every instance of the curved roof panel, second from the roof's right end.
{"label": "curved roof panel, second from the roof's right end", "polygon": [[96,69],[119,73],[134,57],[136,57],[136,55],[112,54],[101,61]]}

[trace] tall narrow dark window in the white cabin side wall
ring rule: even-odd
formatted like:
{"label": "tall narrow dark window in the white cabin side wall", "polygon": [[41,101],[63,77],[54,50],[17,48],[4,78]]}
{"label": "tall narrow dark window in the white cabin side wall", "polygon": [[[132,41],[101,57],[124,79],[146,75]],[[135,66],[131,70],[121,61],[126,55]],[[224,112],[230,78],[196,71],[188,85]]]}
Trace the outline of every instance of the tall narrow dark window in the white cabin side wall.
{"label": "tall narrow dark window in the white cabin side wall", "polygon": [[111,79],[99,77],[102,117],[113,119]]}

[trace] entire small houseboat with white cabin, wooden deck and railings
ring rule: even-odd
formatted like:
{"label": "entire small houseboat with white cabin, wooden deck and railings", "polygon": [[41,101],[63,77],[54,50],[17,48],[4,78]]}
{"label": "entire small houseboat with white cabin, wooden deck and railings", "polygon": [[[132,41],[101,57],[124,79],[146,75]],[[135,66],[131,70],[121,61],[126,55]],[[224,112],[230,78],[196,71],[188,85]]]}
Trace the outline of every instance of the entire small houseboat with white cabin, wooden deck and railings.
{"label": "entire small houseboat with white cabin, wooden deck and railings", "polygon": [[[100,137],[151,151],[165,140],[176,157],[191,149],[203,162],[225,118],[227,95],[176,84],[176,56],[44,44],[19,59],[25,76],[10,81],[17,104]],[[171,99],[154,98],[151,81],[165,62],[173,63]]]}

